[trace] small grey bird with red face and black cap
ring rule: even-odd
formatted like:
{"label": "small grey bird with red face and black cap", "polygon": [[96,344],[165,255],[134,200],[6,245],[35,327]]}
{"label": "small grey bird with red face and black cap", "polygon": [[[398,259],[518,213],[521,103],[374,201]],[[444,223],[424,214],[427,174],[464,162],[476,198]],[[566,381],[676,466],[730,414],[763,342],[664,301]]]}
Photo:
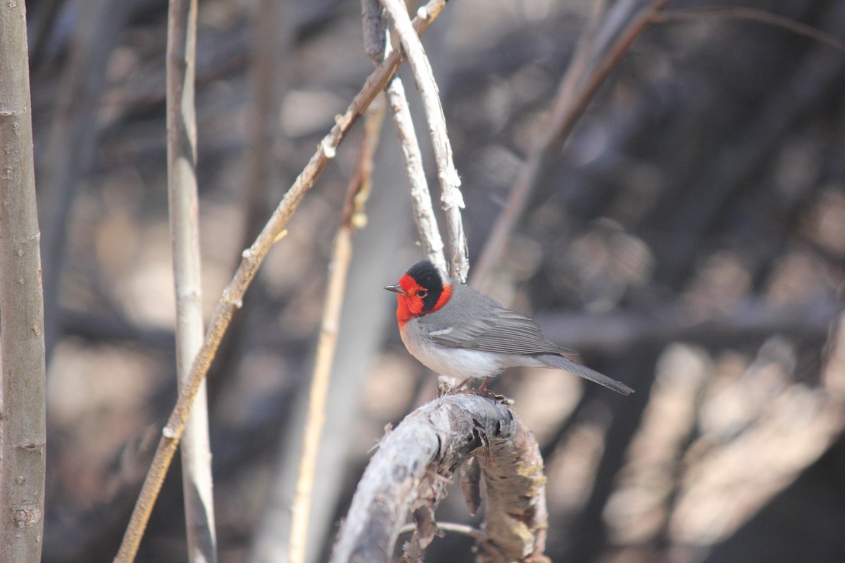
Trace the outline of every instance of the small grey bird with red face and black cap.
{"label": "small grey bird with red face and black cap", "polygon": [[570,360],[575,354],[549,342],[531,318],[510,311],[498,301],[451,279],[428,260],[408,268],[385,290],[396,295],[396,320],[408,352],[431,370],[464,378],[458,387],[506,368],[559,368],[623,395],[633,389]]}

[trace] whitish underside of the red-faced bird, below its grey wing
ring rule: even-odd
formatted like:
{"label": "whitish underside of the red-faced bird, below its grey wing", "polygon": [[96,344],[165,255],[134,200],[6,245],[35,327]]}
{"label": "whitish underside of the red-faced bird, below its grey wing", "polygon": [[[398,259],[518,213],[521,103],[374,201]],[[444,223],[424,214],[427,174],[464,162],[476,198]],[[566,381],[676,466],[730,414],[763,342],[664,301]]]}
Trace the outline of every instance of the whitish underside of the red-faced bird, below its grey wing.
{"label": "whitish underside of the red-faced bird, below its grey wing", "polygon": [[421,342],[418,338],[402,340],[411,355],[420,360],[430,370],[454,377],[490,377],[498,375],[505,367],[503,355],[461,348],[446,348]]}

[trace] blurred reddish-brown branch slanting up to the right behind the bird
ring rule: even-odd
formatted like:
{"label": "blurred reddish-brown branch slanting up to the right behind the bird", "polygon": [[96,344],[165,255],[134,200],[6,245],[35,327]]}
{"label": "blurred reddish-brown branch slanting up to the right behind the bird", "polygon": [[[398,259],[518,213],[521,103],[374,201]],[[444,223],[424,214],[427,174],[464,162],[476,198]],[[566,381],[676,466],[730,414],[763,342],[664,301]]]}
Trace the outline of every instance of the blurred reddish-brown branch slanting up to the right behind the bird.
{"label": "blurred reddish-brown branch slanting up to the right behind the bird", "polygon": [[[476,267],[472,272],[471,285],[482,288],[484,279],[487,278],[493,264],[499,259],[504,251],[505,243],[514,230],[516,221],[525,210],[528,198],[540,180],[543,169],[548,165],[548,160],[559,153],[564,140],[572,132],[575,123],[584,113],[586,107],[596,94],[598,88],[603,84],[611,70],[619,63],[624,53],[628,51],[631,44],[639,37],[649,24],[653,21],[654,14],[662,9],[669,0],[654,0],[648,8],[641,11],[630,25],[624,30],[619,39],[607,51],[607,55],[594,67],[594,70],[586,79],[570,78],[570,73],[581,73],[589,71],[590,68],[583,68],[581,65],[574,65],[567,70],[561,81],[558,95],[554,101],[553,111],[545,123],[542,132],[537,135],[537,143],[528,154],[525,165],[522,166],[520,175],[517,178],[513,189],[510,191],[508,201],[505,203],[502,213],[496,219],[493,230],[490,231],[488,240],[484,245],[481,257],[477,260]],[[593,26],[588,25],[586,33],[593,34]],[[596,51],[590,45],[590,41],[581,42],[579,51],[590,49]],[[575,61],[581,57],[576,55]],[[572,91],[572,84],[583,84],[577,91]]]}

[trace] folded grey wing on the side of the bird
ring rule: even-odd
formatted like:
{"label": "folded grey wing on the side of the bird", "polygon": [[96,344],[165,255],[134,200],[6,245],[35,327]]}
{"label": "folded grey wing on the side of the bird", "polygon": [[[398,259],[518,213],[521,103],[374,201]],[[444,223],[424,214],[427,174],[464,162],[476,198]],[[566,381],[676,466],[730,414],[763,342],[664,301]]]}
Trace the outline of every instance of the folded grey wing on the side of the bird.
{"label": "folded grey wing on the side of the bird", "polygon": [[548,342],[537,323],[521,313],[500,306],[485,312],[488,314],[462,322],[460,327],[430,330],[428,337],[441,346],[501,354],[570,353]]}

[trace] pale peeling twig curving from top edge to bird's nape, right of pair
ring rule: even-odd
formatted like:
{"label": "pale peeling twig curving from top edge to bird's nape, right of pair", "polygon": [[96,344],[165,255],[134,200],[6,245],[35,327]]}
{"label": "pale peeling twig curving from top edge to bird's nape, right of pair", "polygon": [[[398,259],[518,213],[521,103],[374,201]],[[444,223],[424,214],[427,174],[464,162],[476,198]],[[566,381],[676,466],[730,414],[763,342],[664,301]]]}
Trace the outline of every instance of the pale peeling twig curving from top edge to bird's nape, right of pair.
{"label": "pale peeling twig curving from top edge to bird's nape, right of pair", "polygon": [[405,3],[401,0],[379,0],[390,19],[402,50],[411,65],[417,86],[423,95],[423,107],[428,119],[428,130],[431,133],[434,158],[437,160],[438,178],[440,181],[440,203],[446,215],[446,233],[449,238],[449,273],[455,278],[466,282],[470,264],[467,257],[466,235],[464,234],[463,223],[461,222],[461,208],[464,207],[464,199],[461,195],[461,178],[455,170],[455,163],[452,159],[452,147],[449,135],[446,133],[446,118],[443,114],[443,106],[440,104],[437,84],[428,57],[423,51],[423,44],[411,25]]}

